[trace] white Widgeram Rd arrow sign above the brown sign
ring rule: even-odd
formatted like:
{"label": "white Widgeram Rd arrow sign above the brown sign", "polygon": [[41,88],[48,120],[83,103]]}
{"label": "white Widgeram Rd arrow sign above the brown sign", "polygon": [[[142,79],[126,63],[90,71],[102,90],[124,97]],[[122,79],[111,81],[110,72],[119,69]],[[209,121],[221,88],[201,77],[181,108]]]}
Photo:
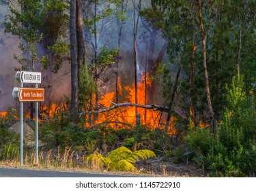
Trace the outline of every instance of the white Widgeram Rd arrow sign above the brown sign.
{"label": "white Widgeram Rd arrow sign above the brown sign", "polygon": [[20,83],[41,83],[41,72],[16,72],[16,79]]}

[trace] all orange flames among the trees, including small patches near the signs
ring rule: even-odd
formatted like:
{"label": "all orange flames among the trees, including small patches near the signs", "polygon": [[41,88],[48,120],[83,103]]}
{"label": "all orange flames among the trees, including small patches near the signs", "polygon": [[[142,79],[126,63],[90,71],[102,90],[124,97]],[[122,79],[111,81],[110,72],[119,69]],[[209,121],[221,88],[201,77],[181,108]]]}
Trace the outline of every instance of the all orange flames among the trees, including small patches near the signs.
{"label": "all orange flames among the trees, including small patches near the signs", "polygon": [[[150,80],[149,75],[142,76],[141,80],[138,83],[138,104],[145,105],[147,104],[147,93],[145,92],[145,86],[150,87],[152,86],[152,80]],[[118,92],[119,95],[124,93],[123,91],[127,92],[126,97],[123,100],[125,102],[134,103],[135,102],[135,95],[134,95],[134,83],[132,85],[126,85],[125,87],[122,86],[121,79],[119,78],[118,83]],[[120,96],[122,97],[122,96]],[[122,99],[120,99],[122,100]],[[96,95],[94,95],[93,100],[85,106],[86,111],[95,111],[96,109],[104,109],[109,108],[115,102],[115,91],[111,91],[101,95],[100,100],[98,102],[98,106],[95,105],[96,103]],[[60,113],[66,111],[68,106],[64,102],[53,103],[46,105],[40,105],[40,119],[48,119],[48,117],[59,117]],[[177,118],[171,117],[170,123],[166,124],[167,113],[161,113],[160,111],[152,111],[145,108],[138,108],[138,113],[141,116],[141,125],[147,128],[148,130],[165,130],[169,135],[175,135],[177,130],[175,128],[175,123]],[[0,115],[5,115],[5,113],[0,113]],[[30,113],[26,113],[25,117],[30,117]],[[98,114],[89,114],[83,115],[85,117],[85,128],[91,128],[96,125],[108,125],[115,130],[123,129],[123,128],[133,128],[136,123],[135,117],[135,108],[134,107],[120,107],[115,108],[111,111],[106,111],[104,113]],[[35,119],[34,119],[35,120]],[[107,127],[107,126],[106,126]]]}

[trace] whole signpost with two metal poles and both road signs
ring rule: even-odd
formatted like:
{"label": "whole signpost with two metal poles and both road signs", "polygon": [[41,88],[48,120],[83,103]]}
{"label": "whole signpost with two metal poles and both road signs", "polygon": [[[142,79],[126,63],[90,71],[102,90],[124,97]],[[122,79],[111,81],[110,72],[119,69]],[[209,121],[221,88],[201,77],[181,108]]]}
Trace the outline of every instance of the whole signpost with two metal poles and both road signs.
{"label": "whole signpost with two metal poles and both road signs", "polygon": [[[23,166],[23,102],[35,102],[35,156],[38,163],[38,102],[44,101],[44,89],[38,88],[41,83],[40,72],[16,72],[20,87],[14,87],[12,96],[20,101],[20,166]],[[33,87],[23,87],[23,83],[33,83]]]}

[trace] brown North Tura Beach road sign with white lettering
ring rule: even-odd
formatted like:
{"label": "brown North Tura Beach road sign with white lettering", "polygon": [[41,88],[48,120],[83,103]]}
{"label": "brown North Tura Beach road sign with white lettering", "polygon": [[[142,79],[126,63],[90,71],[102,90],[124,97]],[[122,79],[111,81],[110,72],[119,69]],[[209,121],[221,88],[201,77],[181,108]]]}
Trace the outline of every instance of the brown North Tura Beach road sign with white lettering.
{"label": "brown North Tura Beach road sign with white lettering", "polygon": [[33,87],[20,87],[18,89],[18,100],[20,102],[43,102],[44,89]]}

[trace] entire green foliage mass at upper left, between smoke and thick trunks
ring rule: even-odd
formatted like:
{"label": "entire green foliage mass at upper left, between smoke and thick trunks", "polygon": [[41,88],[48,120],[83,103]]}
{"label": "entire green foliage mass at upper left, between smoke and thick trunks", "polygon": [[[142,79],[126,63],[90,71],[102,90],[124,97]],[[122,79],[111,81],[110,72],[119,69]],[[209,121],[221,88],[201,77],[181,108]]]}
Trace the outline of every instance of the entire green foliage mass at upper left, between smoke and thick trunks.
{"label": "entire green foliage mass at upper left, between smoke and thick trunks", "polygon": [[[27,56],[14,55],[14,59],[26,70],[35,70],[35,64],[41,64],[41,69],[45,70],[50,62],[54,65],[53,72],[57,72],[68,51],[66,43],[57,41],[66,37],[68,14],[65,12],[68,3],[57,0],[24,0],[18,1],[17,6],[18,9],[12,3],[9,4],[11,14],[4,23],[5,33],[22,38],[23,42],[18,47]],[[50,46],[51,59],[48,55],[38,56],[35,44],[42,41],[46,48]]]}

